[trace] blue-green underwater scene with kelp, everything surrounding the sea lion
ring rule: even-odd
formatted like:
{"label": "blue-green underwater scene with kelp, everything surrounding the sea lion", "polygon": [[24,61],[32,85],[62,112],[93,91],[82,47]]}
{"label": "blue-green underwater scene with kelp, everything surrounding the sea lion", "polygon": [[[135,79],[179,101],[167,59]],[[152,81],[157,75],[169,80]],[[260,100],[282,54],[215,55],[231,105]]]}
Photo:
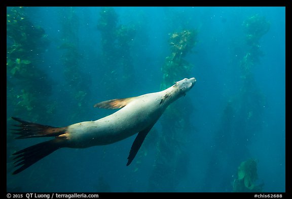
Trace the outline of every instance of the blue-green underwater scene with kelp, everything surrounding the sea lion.
{"label": "blue-green underwater scene with kelp, everything surrounding the sea lion", "polygon": [[[136,136],[12,175],[11,116],[64,127],[95,103],[197,82]],[[7,7],[7,191],[284,192],[284,7]]]}

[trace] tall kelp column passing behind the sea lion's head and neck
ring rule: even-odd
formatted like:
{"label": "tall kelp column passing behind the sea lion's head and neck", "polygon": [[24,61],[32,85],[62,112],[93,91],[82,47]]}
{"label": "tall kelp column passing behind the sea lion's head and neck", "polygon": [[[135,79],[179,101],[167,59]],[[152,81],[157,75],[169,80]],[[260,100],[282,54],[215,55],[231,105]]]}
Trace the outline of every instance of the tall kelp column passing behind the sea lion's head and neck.
{"label": "tall kelp column passing behind the sea lion's head and neck", "polygon": [[[183,30],[170,34],[170,55],[161,67],[161,89],[170,87],[178,79],[190,77],[193,65],[184,58],[195,47],[197,33],[196,30]],[[191,100],[186,96],[184,101],[178,100],[175,106],[169,106],[162,116],[162,132],[156,144],[157,154],[149,191],[175,191],[177,183],[187,176],[190,154],[186,146],[190,144],[190,129],[193,128],[189,121],[192,107]]]}

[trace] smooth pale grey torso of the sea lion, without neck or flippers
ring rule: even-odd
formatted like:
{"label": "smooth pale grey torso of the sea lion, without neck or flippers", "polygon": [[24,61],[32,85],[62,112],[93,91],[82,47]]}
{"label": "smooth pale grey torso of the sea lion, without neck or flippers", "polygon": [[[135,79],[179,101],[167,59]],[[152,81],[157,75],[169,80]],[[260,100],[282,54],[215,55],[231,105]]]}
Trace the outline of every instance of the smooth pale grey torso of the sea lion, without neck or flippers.
{"label": "smooth pale grey torso of the sea lion, without neck or flippers", "polygon": [[161,98],[162,93],[142,95],[111,115],[69,126],[71,147],[111,144],[140,132],[156,123],[163,113]]}

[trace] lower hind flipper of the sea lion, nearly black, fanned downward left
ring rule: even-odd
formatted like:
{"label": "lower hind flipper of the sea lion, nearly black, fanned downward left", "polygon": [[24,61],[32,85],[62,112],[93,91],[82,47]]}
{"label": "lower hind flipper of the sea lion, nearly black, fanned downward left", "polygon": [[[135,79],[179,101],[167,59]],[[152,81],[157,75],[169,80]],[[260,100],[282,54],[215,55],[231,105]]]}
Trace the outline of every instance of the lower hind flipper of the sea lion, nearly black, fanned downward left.
{"label": "lower hind flipper of the sea lion, nearly black, fanned downward left", "polygon": [[64,147],[64,141],[64,138],[55,138],[53,140],[41,142],[13,153],[13,155],[16,155],[13,159],[16,160],[14,163],[15,167],[21,166],[15,170],[13,174],[18,174],[19,172],[27,169],[34,163],[41,160],[43,157],[49,155],[59,148]]}

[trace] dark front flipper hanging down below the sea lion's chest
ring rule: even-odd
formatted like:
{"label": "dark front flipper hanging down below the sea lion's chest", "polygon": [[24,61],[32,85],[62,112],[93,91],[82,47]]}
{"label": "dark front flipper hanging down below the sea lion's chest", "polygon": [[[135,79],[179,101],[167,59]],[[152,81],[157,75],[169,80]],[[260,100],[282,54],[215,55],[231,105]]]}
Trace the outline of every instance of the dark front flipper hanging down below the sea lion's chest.
{"label": "dark front flipper hanging down below the sea lion's chest", "polygon": [[[155,123],[154,123],[155,124]],[[135,138],[129,156],[128,156],[128,163],[127,166],[129,166],[131,164],[131,162],[134,160],[134,157],[136,156],[138,150],[140,149],[145,137],[147,136],[147,134],[149,133],[149,131],[152,129],[152,127],[154,126],[150,125],[149,127],[147,127],[146,129],[140,131],[137,135],[137,137]]]}

